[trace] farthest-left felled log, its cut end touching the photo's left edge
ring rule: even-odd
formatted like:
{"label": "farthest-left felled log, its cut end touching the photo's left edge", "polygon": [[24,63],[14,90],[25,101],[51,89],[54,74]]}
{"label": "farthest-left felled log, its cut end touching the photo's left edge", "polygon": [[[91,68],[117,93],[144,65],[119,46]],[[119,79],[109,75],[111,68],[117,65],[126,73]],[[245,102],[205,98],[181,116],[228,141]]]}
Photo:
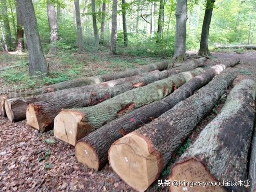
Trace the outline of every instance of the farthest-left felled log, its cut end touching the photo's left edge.
{"label": "farthest-left felled log, its cut end touching the photo's left edge", "polygon": [[[195,61],[195,62],[197,62],[197,61]],[[29,91],[29,92],[18,92],[18,93],[15,92],[15,93],[10,93],[10,94],[5,94],[5,95],[0,96],[0,113],[1,113],[1,116],[6,117],[5,108],[4,108],[4,103],[5,103],[6,99],[12,99],[12,98],[20,99],[20,98],[29,97],[32,95],[39,95],[39,94],[54,92],[54,91],[58,91],[58,90],[68,89],[68,88],[81,87],[81,86],[87,86],[87,85],[92,85],[92,84],[99,84],[99,83],[107,82],[110,80],[130,77],[130,76],[139,75],[141,73],[151,72],[151,71],[155,71],[155,70],[162,71],[167,68],[168,68],[168,62],[163,61],[163,62],[148,64],[141,68],[130,69],[130,70],[127,70],[124,72],[98,75],[95,77],[87,77],[87,78],[81,78],[81,79],[73,79],[70,81],[65,81],[65,82],[54,84],[54,85],[45,86],[45,87],[35,89],[35,90]]]}

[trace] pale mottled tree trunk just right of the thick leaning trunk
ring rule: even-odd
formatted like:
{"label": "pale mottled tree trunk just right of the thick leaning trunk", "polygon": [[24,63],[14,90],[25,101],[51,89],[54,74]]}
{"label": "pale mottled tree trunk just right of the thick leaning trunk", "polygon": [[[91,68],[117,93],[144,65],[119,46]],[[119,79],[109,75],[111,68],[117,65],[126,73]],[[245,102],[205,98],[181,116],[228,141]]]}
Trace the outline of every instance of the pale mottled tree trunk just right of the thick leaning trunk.
{"label": "pale mottled tree trunk just right of the thick leaning trunk", "polygon": [[47,1],[47,15],[48,15],[48,22],[50,27],[50,38],[51,38],[51,48],[49,50],[49,53],[56,54],[56,51],[57,51],[56,42],[59,40],[59,31],[58,31],[58,23],[57,23],[55,7],[52,4],[51,0]]}

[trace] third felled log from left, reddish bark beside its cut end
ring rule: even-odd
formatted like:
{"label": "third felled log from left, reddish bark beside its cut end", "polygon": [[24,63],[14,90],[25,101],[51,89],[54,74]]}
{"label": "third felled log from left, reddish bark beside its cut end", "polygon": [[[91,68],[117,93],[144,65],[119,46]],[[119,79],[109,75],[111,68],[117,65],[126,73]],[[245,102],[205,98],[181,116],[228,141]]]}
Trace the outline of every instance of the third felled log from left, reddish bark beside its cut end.
{"label": "third felled log from left, reddish bark beside its cut end", "polygon": [[59,99],[51,99],[48,97],[46,101],[37,101],[36,103],[29,104],[26,111],[27,123],[32,127],[39,129],[40,131],[48,130],[51,128],[51,125],[54,122],[54,118],[63,108],[86,107],[95,105],[133,88],[142,87],[157,80],[167,78],[172,74],[177,74],[179,72],[203,66],[205,62],[206,58],[200,58],[197,60],[191,60],[190,62],[187,62],[187,64],[167,71],[154,71],[154,73],[143,73],[137,76],[120,78],[117,80],[105,82],[103,85],[108,85],[106,87],[109,88],[105,88],[104,86],[93,86],[93,89],[87,89],[87,92],[84,92],[81,88],[79,90],[68,89],[62,92],[58,92],[53,95],[55,95],[57,98],[66,97],[69,99],[65,100],[65,102],[60,102]]}

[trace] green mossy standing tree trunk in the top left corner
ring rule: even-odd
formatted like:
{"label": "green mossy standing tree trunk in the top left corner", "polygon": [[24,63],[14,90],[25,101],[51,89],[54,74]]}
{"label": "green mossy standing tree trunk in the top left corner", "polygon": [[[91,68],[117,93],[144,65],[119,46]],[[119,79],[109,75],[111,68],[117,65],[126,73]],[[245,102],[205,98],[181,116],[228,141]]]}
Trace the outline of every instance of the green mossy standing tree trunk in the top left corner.
{"label": "green mossy standing tree trunk in the top left corner", "polygon": [[2,19],[3,19],[3,26],[5,31],[5,41],[6,44],[11,47],[12,46],[12,35],[11,35],[11,28],[8,18],[8,12],[7,12],[7,5],[6,0],[1,0],[1,9],[2,9]]}

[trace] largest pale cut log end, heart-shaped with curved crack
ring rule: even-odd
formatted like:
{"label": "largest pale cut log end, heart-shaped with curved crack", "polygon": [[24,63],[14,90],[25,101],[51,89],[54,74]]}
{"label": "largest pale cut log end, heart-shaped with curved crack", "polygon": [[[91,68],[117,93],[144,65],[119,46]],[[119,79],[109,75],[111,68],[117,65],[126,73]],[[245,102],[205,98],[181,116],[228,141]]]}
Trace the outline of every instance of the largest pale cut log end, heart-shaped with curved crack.
{"label": "largest pale cut log end, heart-shaped with curved crack", "polygon": [[137,191],[145,191],[159,176],[158,157],[150,152],[143,136],[133,133],[118,139],[109,150],[112,169]]}

